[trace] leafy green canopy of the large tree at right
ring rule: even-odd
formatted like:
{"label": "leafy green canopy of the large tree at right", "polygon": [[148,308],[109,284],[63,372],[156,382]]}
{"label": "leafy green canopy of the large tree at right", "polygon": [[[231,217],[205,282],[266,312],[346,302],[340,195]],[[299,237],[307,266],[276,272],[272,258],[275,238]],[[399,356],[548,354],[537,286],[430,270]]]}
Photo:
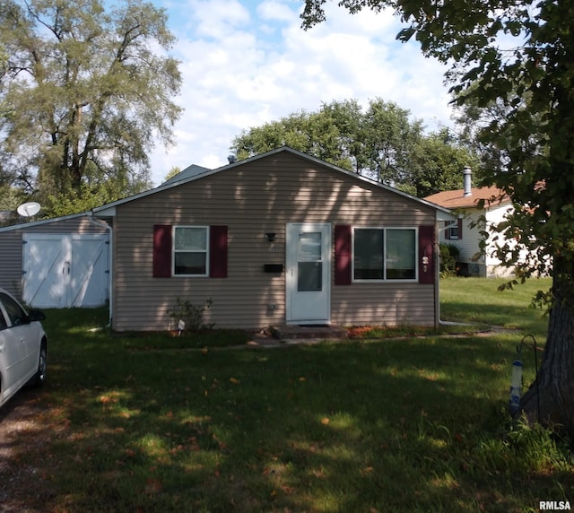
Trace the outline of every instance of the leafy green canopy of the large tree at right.
{"label": "leafy green canopy of the large tree at right", "polygon": [[[574,268],[574,4],[552,0],[378,0],[340,3],[351,13],[390,7],[406,24],[399,40],[449,66],[463,108],[466,142],[484,158],[485,185],[512,196],[515,212],[499,230],[512,242],[499,257],[527,278],[547,271],[558,254]],[[309,28],[325,19],[322,0],[308,0]],[[517,246],[515,246],[515,241]],[[535,258],[521,261],[520,248]],[[570,280],[570,282],[573,282]]]}

